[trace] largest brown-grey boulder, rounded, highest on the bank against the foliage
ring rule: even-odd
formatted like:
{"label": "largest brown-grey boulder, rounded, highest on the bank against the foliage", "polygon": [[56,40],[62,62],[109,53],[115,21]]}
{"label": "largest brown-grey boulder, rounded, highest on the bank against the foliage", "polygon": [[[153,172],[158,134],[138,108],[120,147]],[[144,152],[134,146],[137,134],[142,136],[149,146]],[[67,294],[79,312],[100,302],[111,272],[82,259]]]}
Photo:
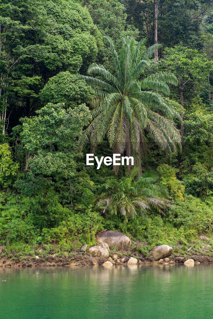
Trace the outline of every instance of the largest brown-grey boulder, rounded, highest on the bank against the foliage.
{"label": "largest brown-grey boulder, rounded, highest on the bank against the foliage", "polygon": [[126,235],[115,232],[114,230],[106,230],[96,234],[96,241],[99,243],[106,243],[109,247],[123,248],[125,246],[130,246],[130,238]]}

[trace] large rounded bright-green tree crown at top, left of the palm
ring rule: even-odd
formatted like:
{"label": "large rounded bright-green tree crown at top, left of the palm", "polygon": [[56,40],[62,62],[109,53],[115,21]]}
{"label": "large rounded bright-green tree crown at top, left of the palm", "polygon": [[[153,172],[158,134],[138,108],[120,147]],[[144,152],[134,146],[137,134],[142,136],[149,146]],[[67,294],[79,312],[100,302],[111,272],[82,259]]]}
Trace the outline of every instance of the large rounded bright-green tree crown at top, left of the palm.
{"label": "large rounded bright-green tree crown at top, left of the palm", "polygon": [[54,23],[44,42],[48,48],[44,63],[51,75],[75,73],[95,61],[103,42],[88,10],[74,0],[50,0],[45,9]]}

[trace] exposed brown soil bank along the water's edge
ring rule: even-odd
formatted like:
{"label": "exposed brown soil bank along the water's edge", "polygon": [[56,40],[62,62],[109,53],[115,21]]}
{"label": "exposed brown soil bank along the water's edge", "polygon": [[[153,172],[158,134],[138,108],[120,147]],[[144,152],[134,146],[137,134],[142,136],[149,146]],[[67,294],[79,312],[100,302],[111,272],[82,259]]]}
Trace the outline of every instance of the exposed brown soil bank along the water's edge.
{"label": "exposed brown soil bank along the water's edge", "polygon": [[[213,255],[213,254],[212,254]],[[119,254],[119,259],[122,259],[122,262],[119,261],[119,264],[126,264],[129,258],[133,256],[138,259],[138,264],[157,264],[159,262],[155,262],[152,257],[146,257],[142,254],[138,254],[135,256],[128,255],[124,253]],[[174,263],[184,263],[185,260],[192,258],[195,262],[200,263],[213,263],[213,256],[205,256],[205,255],[188,255],[188,256],[175,256],[171,255],[169,257],[169,262],[166,264],[174,264]],[[22,256],[20,259],[14,260],[13,258],[9,258],[8,256],[4,256],[0,258],[0,267],[54,267],[54,266],[92,266],[95,264],[102,265],[108,258],[99,258],[99,257],[91,257],[88,254],[82,253],[73,253],[72,256],[54,256],[50,255],[47,257],[29,257]],[[162,262],[165,263],[165,262]],[[116,264],[116,260],[115,260]]]}

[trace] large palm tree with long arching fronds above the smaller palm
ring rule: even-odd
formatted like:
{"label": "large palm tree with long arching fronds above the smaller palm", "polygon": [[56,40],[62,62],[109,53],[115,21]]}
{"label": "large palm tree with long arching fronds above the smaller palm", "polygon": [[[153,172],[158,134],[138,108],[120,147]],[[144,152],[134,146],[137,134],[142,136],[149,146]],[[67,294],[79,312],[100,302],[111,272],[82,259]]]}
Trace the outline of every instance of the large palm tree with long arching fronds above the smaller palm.
{"label": "large palm tree with long arching fronds above the smaller palm", "polygon": [[89,66],[88,74],[98,77],[79,75],[96,93],[92,122],[83,131],[81,145],[85,146],[91,140],[92,146],[96,147],[107,135],[114,153],[133,156],[140,167],[141,155],[146,150],[146,130],[162,150],[177,152],[181,149],[181,138],[173,119],[181,119],[170,100],[164,97],[170,93],[167,84],[177,85],[177,78],[167,72],[143,78],[156,49],[156,45],[146,48],[146,39],[136,42],[132,37],[123,38],[119,53],[112,39],[106,39],[114,75],[97,63]]}

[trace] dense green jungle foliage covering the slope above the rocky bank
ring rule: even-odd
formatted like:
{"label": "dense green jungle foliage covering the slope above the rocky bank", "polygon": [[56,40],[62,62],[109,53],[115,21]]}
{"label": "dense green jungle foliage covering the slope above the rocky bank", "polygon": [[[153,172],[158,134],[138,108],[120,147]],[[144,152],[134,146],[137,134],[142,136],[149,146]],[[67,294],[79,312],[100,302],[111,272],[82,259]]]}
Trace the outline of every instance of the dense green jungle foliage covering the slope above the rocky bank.
{"label": "dense green jungle foliage covering the slope above the rocky bank", "polygon": [[[144,255],[212,237],[212,10],[206,0],[1,1],[7,252],[70,251],[103,229],[146,241]],[[91,150],[133,156],[134,168],[86,166]]]}

